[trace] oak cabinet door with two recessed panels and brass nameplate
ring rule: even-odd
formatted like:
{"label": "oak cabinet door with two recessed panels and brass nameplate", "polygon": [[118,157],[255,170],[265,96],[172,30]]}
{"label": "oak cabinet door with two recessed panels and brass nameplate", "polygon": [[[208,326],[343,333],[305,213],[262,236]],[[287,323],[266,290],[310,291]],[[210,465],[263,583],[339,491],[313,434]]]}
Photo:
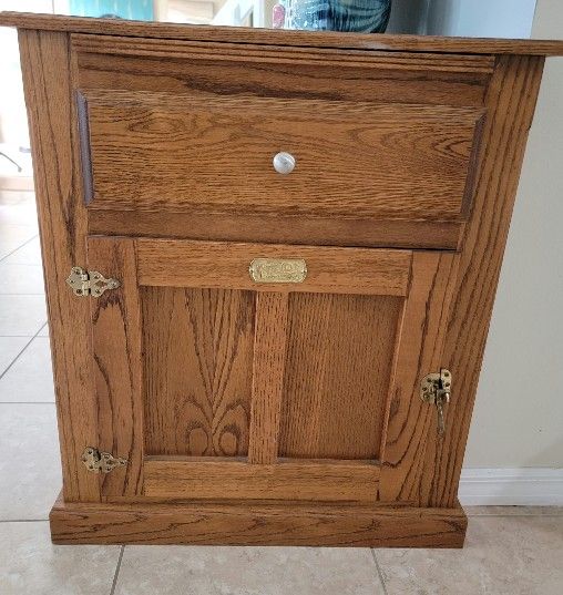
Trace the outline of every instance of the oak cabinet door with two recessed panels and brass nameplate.
{"label": "oak cabinet door with two recessed panels and brass nameplate", "polygon": [[92,236],[88,259],[121,283],[91,300],[99,448],[127,460],[105,496],[412,500],[453,255]]}

